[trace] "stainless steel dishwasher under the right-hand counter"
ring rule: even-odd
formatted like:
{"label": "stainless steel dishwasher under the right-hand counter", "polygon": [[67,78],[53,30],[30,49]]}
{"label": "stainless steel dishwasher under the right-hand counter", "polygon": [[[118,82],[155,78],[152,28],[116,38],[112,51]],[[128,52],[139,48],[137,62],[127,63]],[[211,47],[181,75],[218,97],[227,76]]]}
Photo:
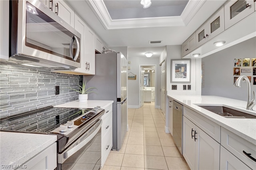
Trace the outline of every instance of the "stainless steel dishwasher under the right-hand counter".
{"label": "stainless steel dishwasher under the right-hand counter", "polygon": [[183,105],[173,101],[173,140],[182,154],[182,111]]}

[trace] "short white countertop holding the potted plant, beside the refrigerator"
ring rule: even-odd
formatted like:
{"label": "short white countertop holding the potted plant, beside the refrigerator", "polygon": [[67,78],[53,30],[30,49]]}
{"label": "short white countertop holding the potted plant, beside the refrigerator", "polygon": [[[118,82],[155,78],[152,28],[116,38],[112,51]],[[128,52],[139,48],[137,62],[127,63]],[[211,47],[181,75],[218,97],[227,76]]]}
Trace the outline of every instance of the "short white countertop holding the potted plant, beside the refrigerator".
{"label": "short white countertop holding the potted plant, beside the refrigerator", "polygon": [[94,108],[97,106],[100,106],[101,108],[106,108],[106,106],[109,106],[112,104],[113,100],[88,100],[88,102],[79,102],[79,100],[68,102],[65,104],[60,104],[54,107],[60,107],[60,108]]}

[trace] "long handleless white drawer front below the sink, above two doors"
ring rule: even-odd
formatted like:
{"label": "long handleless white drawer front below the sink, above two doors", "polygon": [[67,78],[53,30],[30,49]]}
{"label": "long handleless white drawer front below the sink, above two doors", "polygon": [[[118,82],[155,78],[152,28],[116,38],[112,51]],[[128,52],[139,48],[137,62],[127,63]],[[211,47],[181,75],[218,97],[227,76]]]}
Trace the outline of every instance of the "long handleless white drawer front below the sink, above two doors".
{"label": "long handleless white drawer front below the sink, above two doors", "polygon": [[183,108],[183,115],[220,143],[220,125],[186,107]]}

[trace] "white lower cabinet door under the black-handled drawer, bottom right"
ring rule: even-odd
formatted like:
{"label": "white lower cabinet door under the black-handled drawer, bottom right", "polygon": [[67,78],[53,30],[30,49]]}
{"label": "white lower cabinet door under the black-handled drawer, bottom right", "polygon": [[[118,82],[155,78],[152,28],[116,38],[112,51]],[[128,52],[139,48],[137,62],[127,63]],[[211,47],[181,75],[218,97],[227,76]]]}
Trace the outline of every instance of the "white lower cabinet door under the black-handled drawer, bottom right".
{"label": "white lower cabinet door under the black-handled drawer, bottom right", "polygon": [[251,168],[220,146],[220,170],[251,170]]}

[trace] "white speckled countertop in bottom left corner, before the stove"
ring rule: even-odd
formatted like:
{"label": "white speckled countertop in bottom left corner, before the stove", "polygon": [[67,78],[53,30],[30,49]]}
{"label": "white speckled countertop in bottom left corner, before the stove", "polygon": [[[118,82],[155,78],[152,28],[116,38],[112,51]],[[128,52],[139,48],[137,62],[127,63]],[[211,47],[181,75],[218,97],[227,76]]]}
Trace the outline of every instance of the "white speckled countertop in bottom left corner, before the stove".
{"label": "white speckled countertop in bottom left corner, before the stove", "polygon": [[[0,132],[1,170],[13,169],[56,142],[56,135]],[[2,165],[12,165],[4,168]]]}

